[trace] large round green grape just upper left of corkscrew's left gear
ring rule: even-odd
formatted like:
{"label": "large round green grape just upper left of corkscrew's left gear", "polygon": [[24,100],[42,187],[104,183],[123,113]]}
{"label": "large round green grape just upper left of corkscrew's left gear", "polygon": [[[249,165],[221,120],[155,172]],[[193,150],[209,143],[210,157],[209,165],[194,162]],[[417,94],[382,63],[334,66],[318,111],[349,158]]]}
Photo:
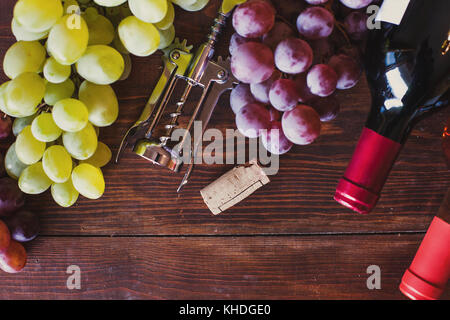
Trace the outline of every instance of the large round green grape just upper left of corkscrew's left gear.
{"label": "large round green grape just upper left of corkscrew's left gear", "polygon": [[136,56],[149,56],[158,49],[159,32],[151,23],[129,16],[122,20],[117,31],[124,47]]}

